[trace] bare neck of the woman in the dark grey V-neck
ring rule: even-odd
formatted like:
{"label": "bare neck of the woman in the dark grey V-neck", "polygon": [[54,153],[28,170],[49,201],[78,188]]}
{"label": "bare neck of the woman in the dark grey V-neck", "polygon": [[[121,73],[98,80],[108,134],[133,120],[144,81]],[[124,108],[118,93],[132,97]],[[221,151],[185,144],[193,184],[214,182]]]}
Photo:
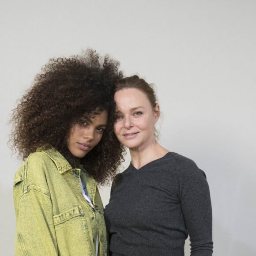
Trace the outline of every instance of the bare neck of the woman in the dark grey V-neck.
{"label": "bare neck of the woman in the dark grey V-neck", "polygon": [[130,148],[132,165],[139,169],[149,162],[162,158],[169,151],[162,147],[155,139],[147,147]]}

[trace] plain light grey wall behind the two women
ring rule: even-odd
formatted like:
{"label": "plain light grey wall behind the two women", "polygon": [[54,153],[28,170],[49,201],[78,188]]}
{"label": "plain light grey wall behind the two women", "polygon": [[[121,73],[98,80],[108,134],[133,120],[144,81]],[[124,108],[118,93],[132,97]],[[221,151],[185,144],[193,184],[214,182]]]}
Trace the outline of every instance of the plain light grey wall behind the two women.
{"label": "plain light grey wall behind the two women", "polygon": [[207,173],[214,255],[255,256],[255,14],[254,0],[0,0],[0,254],[14,254],[21,163],[7,147],[11,109],[49,58],[92,47],[156,84],[160,143]]}

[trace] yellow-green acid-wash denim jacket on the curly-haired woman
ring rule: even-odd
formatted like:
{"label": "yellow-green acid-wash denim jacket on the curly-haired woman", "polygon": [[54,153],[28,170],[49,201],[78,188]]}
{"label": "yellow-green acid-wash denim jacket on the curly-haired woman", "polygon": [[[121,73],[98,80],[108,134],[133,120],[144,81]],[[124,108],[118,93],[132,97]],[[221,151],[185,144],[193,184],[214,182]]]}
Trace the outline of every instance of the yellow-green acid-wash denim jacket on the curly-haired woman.
{"label": "yellow-green acid-wash denim jacket on the curly-haired woman", "polygon": [[[81,180],[90,199],[85,200]],[[107,255],[103,205],[96,181],[55,149],[38,150],[15,174],[15,255]]]}

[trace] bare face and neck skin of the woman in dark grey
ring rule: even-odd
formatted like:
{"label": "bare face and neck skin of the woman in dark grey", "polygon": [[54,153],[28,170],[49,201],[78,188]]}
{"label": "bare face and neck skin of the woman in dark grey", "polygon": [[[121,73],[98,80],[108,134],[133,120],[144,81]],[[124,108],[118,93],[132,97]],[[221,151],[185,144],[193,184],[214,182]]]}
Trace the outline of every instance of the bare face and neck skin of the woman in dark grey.
{"label": "bare face and neck skin of the woman in dark grey", "polygon": [[147,95],[136,88],[124,88],[115,93],[117,139],[129,148],[132,165],[139,169],[162,158],[169,151],[155,139],[154,124],[159,119],[159,105],[153,108]]}

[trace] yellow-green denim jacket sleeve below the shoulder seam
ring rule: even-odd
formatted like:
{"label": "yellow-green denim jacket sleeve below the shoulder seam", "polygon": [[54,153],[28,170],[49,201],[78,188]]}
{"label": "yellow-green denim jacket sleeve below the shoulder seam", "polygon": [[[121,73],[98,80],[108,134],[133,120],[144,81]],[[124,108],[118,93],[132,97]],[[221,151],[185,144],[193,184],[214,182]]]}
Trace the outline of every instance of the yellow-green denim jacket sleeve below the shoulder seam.
{"label": "yellow-green denim jacket sleeve below the shoulder seam", "polygon": [[15,255],[38,255],[38,252],[41,255],[58,255],[53,215],[49,209],[49,196],[37,190],[30,190],[19,200]]}

